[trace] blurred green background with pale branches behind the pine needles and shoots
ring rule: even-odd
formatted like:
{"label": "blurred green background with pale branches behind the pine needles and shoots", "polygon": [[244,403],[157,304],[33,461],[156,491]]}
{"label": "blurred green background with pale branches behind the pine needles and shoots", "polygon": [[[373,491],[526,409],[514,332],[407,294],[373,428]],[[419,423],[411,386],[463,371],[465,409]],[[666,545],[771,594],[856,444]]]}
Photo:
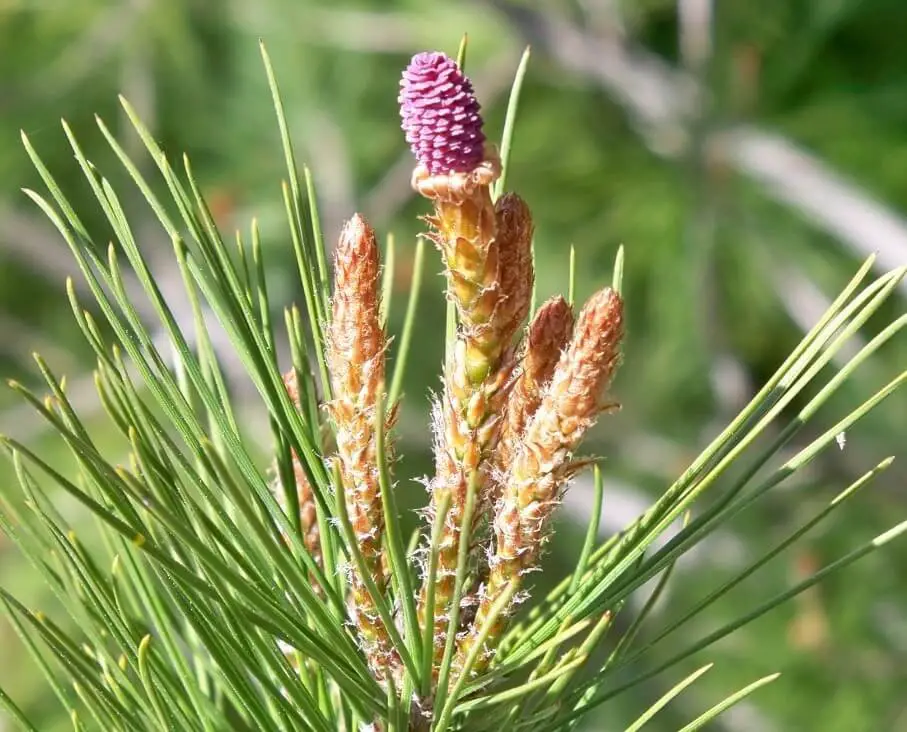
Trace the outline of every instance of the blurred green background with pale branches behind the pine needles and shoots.
{"label": "blurred green background with pale branches behind the pine needles and shoots", "polygon": [[[63,290],[76,267],[20,192],[39,184],[19,131],[81,204],[84,220],[103,232],[57,120],[68,120],[88,157],[116,180],[94,115],[138,154],[118,93],[173,158],[189,153],[226,231],[258,218],[275,304],[301,301],[259,38],[282,85],[299,157],[314,171],[328,241],[354,210],[396,236],[391,328],[398,330],[417,216],[426,207],[409,188],[397,80],[412,53],[453,54],[463,32],[492,139],[500,136],[523,47],[533,47],[508,187],[535,214],[540,298],[566,291],[570,245],[580,299],[610,281],[617,247],[626,247],[629,338],[615,385],[624,408],[588,447],[608,458],[608,532],[686,467],[860,261],[876,251],[880,270],[907,263],[907,221],[899,213],[907,208],[903,0],[0,0],[2,374],[36,384],[30,354],[37,350],[67,374],[85,414],[97,408],[92,365]],[[169,244],[147,210],[133,209],[167,291],[176,277]],[[407,456],[399,490],[413,505],[422,489],[411,478],[430,466],[428,395],[438,385],[443,347],[439,271],[431,252],[399,429]],[[905,294],[887,317],[903,311]],[[882,322],[871,321],[867,333]],[[833,425],[905,363],[901,337],[789,449]],[[237,398],[254,396],[238,387]],[[103,431],[100,417],[96,426]],[[0,431],[51,455],[59,450],[8,391],[0,392]],[[905,435],[907,399],[899,394],[849,433],[843,450],[687,557],[659,614],[682,610],[878,460],[903,453]],[[903,457],[850,509],[692,623],[686,640],[903,517]],[[0,471],[10,480],[6,466]],[[577,551],[588,500],[581,480],[563,512],[552,567]],[[677,729],[744,683],[781,671],[779,682],[711,729],[907,730],[905,568],[907,545],[895,543],[699,654],[690,669],[714,660],[716,670],[651,729]],[[49,602],[2,536],[0,582],[39,606]],[[669,641],[665,657],[683,640]],[[0,658],[0,684],[41,729],[68,728],[5,621]],[[587,728],[623,729],[680,678],[676,669],[620,697]]]}

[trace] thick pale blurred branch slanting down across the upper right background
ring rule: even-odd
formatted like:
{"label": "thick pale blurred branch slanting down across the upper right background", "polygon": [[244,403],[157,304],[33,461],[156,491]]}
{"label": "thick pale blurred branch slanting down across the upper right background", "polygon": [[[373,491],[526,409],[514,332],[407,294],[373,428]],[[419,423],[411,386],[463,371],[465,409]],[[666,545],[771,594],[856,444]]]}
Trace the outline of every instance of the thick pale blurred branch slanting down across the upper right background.
{"label": "thick pale blurred branch slanting down across the upper right background", "polygon": [[[551,14],[508,0],[484,0],[537,50],[594,79],[622,104],[657,154],[675,158],[690,144],[688,122],[703,90],[657,55],[613,35],[595,37]],[[767,196],[809,219],[856,256],[877,253],[880,271],[907,260],[907,220],[822,160],[781,135],[738,126],[711,136],[710,148]],[[900,286],[907,293],[907,281]]]}

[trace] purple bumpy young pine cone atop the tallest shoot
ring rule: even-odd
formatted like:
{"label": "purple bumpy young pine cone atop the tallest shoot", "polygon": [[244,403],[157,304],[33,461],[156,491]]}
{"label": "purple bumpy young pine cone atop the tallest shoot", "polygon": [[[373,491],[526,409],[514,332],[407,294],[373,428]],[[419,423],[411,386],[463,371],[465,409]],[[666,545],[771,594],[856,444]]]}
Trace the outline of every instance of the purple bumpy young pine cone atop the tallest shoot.
{"label": "purple bumpy young pine cone atop the tallest shoot", "polygon": [[406,141],[429,173],[466,173],[482,162],[479,102],[453,59],[443,53],[413,56],[397,101]]}

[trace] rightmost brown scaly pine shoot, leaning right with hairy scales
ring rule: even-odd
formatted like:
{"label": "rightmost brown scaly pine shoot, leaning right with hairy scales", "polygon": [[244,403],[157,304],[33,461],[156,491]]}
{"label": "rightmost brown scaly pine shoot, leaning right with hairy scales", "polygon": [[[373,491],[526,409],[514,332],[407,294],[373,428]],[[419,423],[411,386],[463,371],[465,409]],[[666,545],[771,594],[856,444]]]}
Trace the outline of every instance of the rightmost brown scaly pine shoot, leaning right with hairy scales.
{"label": "rightmost brown scaly pine shoot, leaning right with hairy scales", "polygon": [[[623,303],[610,289],[593,295],[577,318],[570,346],[558,360],[504,482],[495,509],[494,555],[475,620],[458,647],[460,661],[491,622],[489,612],[511,582],[533,569],[573,466],[570,456],[601,411],[601,394],[620,358]],[[489,629],[474,671],[490,659],[504,629],[506,612]]]}

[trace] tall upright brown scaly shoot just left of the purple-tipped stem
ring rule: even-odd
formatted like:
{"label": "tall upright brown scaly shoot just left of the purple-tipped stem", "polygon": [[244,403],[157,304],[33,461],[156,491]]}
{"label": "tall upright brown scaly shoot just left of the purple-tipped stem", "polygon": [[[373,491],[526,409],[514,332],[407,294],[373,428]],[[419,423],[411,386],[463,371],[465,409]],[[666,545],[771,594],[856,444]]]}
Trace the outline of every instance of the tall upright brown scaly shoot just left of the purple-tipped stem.
{"label": "tall upright brown scaly shoot just left of the purple-tipped stem", "polygon": [[[376,406],[384,388],[387,340],[379,320],[379,261],[375,232],[358,214],[343,227],[334,256],[334,298],[326,357],[343,500],[365,568],[379,592],[384,515],[378,479]],[[385,678],[397,653],[358,570],[350,579],[350,611],[373,672]]]}

